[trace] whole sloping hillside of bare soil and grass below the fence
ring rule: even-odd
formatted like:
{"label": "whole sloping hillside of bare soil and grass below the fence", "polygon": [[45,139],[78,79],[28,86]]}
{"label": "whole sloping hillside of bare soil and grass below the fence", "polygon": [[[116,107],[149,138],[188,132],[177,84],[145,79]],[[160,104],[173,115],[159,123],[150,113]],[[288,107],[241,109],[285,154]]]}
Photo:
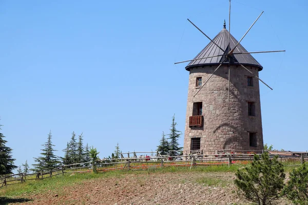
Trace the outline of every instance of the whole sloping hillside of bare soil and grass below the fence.
{"label": "whole sloping hillside of bare soil and grass below the fence", "polygon": [[[2,189],[2,204],[248,204],[234,169],[187,168],[74,174]],[[281,200],[278,204],[290,204]]]}

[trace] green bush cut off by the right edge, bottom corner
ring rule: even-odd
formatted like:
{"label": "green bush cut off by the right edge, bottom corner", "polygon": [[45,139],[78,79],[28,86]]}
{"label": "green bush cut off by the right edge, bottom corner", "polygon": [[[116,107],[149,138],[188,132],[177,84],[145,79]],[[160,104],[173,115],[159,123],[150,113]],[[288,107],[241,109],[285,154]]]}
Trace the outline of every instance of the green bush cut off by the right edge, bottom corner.
{"label": "green bush cut off by the right edge, bottom corner", "polygon": [[290,180],[282,193],[294,204],[308,205],[308,170],[305,164],[290,173]]}

